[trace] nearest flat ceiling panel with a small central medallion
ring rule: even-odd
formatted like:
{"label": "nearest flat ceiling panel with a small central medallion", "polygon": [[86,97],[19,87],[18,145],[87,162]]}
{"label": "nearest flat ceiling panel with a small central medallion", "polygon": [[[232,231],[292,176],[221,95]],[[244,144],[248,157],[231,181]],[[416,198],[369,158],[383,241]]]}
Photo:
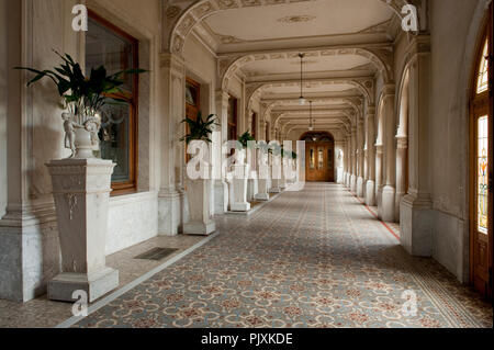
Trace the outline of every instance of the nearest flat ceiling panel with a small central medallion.
{"label": "nearest flat ceiling panel with a small central medallion", "polygon": [[215,13],[203,21],[218,41],[220,53],[269,48],[282,42],[344,36],[386,39],[393,35],[392,9],[379,0],[315,0],[276,7],[244,7]]}

